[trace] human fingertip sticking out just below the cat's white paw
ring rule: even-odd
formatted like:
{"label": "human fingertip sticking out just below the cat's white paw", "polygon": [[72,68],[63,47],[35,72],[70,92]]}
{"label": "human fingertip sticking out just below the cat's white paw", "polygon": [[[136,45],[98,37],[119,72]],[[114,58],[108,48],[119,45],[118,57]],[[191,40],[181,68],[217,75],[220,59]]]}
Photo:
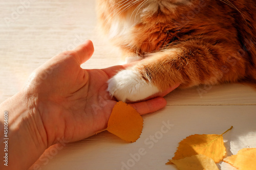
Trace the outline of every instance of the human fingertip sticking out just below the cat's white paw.
{"label": "human fingertip sticking out just below the cat's white paw", "polygon": [[155,112],[166,106],[166,100],[164,98],[155,98],[144,102],[129,104],[137,110],[141,115],[146,113]]}

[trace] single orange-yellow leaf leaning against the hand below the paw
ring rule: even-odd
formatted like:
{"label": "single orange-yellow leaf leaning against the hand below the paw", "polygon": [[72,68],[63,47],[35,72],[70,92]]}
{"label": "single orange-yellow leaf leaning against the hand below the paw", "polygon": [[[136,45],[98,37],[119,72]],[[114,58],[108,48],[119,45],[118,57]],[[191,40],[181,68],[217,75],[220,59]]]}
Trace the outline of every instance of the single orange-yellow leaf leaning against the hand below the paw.
{"label": "single orange-yellow leaf leaning against the hand below the paw", "polygon": [[106,130],[125,141],[135,142],[142,128],[141,115],[132,106],[118,102],[112,110]]}

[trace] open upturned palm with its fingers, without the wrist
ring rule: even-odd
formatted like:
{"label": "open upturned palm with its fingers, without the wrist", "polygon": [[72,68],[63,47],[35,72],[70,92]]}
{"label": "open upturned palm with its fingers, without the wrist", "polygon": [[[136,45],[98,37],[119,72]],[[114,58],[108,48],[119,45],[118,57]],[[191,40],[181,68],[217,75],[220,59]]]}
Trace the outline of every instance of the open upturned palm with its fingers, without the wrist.
{"label": "open upturned palm with its fingers, without the wrist", "polygon": [[[73,51],[53,57],[31,76],[28,87],[35,94],[48,147],[59,139],[77,141],[106,128],[116,104],[106,91],[107,81],[125,66],[82,69],[80,65],[93,51],[92,42],[87,41]],[[163,108],[166,101],[155,98],[131,105],[145,114]]]}

